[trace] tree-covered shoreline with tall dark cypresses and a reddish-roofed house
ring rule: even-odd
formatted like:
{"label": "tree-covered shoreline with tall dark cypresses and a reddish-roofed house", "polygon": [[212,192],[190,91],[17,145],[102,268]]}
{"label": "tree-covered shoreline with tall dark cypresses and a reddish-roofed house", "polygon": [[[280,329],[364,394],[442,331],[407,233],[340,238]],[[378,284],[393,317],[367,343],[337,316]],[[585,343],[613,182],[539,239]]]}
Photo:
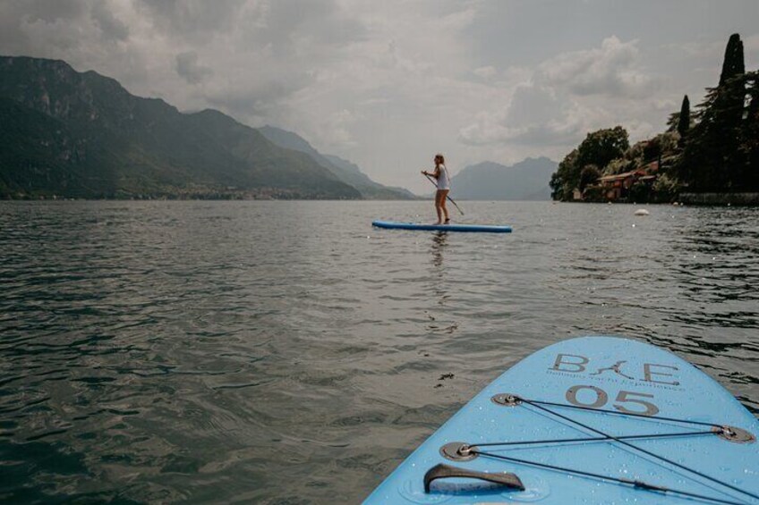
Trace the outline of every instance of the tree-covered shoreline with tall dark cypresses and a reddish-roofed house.
{"label": "tree-covered shoreline with tall dark cypresses and a reddish-roofed house", "polygon": [[668,127],[633,146],[622,126],[588,133],[551,176],[551,197],[672,202],[686,193],[759,192],[759,71],[746,72],[738,34],[729,38],[719,84],[693,114],[686,95]]}

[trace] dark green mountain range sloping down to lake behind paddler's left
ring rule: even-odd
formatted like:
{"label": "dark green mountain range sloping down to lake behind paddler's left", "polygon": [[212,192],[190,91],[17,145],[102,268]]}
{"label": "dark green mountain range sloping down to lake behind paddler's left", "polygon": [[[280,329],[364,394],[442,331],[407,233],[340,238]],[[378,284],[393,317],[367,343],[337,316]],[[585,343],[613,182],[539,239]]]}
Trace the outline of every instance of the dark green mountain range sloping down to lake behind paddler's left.
{"label": "dark green mountain range sloping down to lake behind paddler's left", "polygon": [[413,198],[264,131],[63,61],[0,56],[0,198]]}

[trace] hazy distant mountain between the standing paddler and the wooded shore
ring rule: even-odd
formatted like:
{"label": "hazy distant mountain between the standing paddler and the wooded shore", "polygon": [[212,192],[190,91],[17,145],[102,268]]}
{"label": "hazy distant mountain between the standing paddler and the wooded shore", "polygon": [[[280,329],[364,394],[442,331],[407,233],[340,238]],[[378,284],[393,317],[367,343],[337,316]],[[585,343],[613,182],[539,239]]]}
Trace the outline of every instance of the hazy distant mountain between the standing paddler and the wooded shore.
{"label": "hazy distant mountain between the standing paddler and the wooded shore", "polygon": [[557,164],[546,157],[512,166],[482,162],[451,179],[451,193],[463,200],[550,200],[549,181]]}

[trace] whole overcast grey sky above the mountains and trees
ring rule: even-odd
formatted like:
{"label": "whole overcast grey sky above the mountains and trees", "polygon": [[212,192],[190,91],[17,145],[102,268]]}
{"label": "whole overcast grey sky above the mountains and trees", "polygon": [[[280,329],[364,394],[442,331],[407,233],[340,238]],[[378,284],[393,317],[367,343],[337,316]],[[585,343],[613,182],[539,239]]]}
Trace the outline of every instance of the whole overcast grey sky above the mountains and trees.
{"label": "whole overcast grey sky above the mountains and trees", "polygon": [[757,0],[0,0],[0,54],[294,130],[417,192],[438,151],[456,173],[663,130],[734,32],[755,70]]}

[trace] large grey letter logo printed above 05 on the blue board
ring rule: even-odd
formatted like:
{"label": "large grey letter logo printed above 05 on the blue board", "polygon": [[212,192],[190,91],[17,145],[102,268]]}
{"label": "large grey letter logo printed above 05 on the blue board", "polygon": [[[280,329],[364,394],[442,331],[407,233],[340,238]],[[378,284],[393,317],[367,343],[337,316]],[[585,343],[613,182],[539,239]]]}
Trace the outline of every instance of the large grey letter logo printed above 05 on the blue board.
{"label": "large grey letter logo printed above 05 on the blue board", "polygon": [[591,363],[591,359],[578,354],[557,354],[553,366],[549,370],[569,374],[587,375],[590,377],[617,377],[629,381],[641,381],[652,384],[678,386],[677,366],[644,363],[642,366],[631,366],[626,359],[617,362]]}

